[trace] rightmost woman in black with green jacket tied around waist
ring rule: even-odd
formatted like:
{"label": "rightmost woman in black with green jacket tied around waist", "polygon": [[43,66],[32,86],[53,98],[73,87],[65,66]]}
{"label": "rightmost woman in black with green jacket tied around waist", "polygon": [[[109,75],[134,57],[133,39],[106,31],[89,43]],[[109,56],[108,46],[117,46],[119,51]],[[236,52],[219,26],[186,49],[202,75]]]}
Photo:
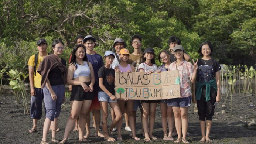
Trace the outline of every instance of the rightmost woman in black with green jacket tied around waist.
{"label": "rightmost woman in black with green jacket tied around waist", "polygon": [[210,139],[212,116],[214,115],[216,104],[221,101],[221,66],[216,59],[211,57],[212,52],[213,47],[211,42],[205,41],[201,44],[198,54],[202,56],[202,59],[198,59],[196,85],[193,85],[192,100],[193,103],[197,103],[202,134],[200,143],[212,142]]}

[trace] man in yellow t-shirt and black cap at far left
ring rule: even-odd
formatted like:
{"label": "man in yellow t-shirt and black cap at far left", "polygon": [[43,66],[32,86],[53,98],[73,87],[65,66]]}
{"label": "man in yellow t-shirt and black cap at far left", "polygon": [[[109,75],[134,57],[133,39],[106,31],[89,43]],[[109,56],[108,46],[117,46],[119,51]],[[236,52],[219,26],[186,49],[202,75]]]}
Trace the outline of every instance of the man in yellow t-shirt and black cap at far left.
{"label": "man in yellow t-shirt and black cap at far left", "polygon": [[33,119],[33,127],[29,130],[30,133],[37,131],[37,121],[42,117],[42,102],[44,99],[44,93],[41,89],[42,77],[39,73],[36,72],[36,70],[44,57],[48,55],[46,51],[47,46],[48,45],[45,39],[40,38],[37,40],[38,53],[30,56],[28,60],[28,73],[31,94],[30,116]]}

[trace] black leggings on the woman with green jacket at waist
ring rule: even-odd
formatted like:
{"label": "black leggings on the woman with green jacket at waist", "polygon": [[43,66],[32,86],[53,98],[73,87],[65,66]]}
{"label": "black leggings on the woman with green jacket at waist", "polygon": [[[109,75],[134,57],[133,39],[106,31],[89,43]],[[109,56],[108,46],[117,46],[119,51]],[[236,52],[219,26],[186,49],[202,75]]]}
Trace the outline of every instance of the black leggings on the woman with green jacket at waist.
{"label": "black leggings on the woman with green jacket at waist", "polygon": [[206,120],[212,120],[212,116],[214,115],[214,108],[215,106],[214,103],[216,102],[216,96],[217,96],[217,91],[215,88],[211,87],[211,93],[210,97],[211,100],[208,102],[205,102],[205,86],[202,87],[202,95],[201,99],[197,100],[197,109],[198,109],[198,116],[199,120],[205,121]]}

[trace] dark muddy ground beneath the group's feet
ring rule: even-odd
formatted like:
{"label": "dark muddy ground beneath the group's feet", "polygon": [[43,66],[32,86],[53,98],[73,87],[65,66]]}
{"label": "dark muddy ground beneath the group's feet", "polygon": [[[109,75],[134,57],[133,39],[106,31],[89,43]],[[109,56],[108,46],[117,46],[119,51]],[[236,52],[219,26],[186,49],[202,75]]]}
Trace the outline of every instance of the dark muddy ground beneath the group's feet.
{"label": "dark muddy ground beneath the group's feet", "polygon": [[[232,97],[233,112],[230,110],[230,99],[226,104],[226,113],[222,114],[222,103],[225,99],[225,95],[222,95],[222,102],[215,108],[215,115],[211,130],[211,139],[213,143],[241,143],[252,144],[256,143],[256,126],[248,126],[246,122],[256,120],[256,96],[251,96],[250,104],[248,104],[248,96],[242,96],[242,94],[235,94]],[[30,99],[30,98],[28,98]],[[30,101],[28,102],[30,104]],[[251,105],[251,106],[250,106]],[[62,105],[61,115],[58,121],[58,127],[60,131],[56,134],[56,138],[61,140],[65,131],[66,120],[70,113],[70,101],[69,99]],[[20,106],[16,106],[14,96],[11,93],[11,89],[2,89],[2,95],[0,97],[0,143],[2,144],[39,144],[42,139],[42,127],[44,123],[43,119],[38,121],[38,128],[36,133],[29,133],[28,130],[33,126],[30,115],[24,115],[22,103]],[[109,117],[108,122],[111,119]],[[141,134],[141,119],[140,111],[137,111],[137,123],[136,133],[137,137],[143,138]],[[95,129],[92,127],[91,121],[91,135],[95,133]],[[135,141],[130,138],[130,132],[124,130],[123,124],[123,139],[115,143],[173,143],[171,141],[163,140],[163,131],[161,126],[161,113],[160,106],[157,104],[156,122],[154,126],[153,135],[158,140],[152,140],[151,142],[145,142],[144,140]],[[194,104],[189,108],[189,124],[188,132],[191,136],[187,137],[190,143],[199,143],[201,139],[201,131],[199,127],[198,114],[194,112]],[[113,137],[117,137],[117,132],[113,132]],[[174,137],[175,139],[177,138]],[[48,134],[48,141],[51,140],[51,132]],[[103,141],[103,138],[97,136],[91,136],[89,140],[91,143],[107,143]],[[71,132],[68,140],[68,144],[79,143],[78,132]],[[181,142],[182,143],[182,142]]]}

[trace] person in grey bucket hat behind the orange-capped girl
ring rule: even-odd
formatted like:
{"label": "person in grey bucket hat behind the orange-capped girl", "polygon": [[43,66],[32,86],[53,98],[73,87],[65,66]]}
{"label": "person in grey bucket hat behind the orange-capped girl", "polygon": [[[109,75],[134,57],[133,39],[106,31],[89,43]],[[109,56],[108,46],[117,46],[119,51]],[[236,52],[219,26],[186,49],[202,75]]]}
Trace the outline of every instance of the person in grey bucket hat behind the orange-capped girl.
{"label": "person in grey bucket hat behind the orange-capped girl", "polygon": [[120,58],[119,58],[119,52],[121,49],[126,48],[126,42],[122,38],[116,38],[113,42],[112,49],[114,51],[115,49],[115,59],[111,65],[111,68],[115,69],[117,65],[120,64]]}

